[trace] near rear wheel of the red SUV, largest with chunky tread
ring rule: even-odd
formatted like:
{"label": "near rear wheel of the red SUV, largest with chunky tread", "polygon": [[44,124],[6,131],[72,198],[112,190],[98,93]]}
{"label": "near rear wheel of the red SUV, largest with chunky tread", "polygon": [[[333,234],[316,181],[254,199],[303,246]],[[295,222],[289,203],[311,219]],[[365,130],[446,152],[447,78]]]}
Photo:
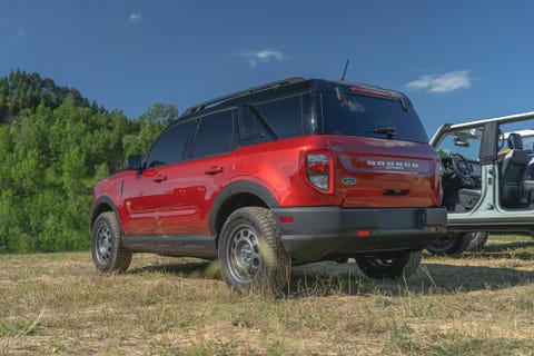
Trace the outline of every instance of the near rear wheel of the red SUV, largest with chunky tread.
{"label": "near rear wheel of the red SUV, largest with chunky tread", "polygon": [[218,255],[220,275],[231,287],[284,294],[291,259],[270,210],[246,207],[234,211],[220,233]]}

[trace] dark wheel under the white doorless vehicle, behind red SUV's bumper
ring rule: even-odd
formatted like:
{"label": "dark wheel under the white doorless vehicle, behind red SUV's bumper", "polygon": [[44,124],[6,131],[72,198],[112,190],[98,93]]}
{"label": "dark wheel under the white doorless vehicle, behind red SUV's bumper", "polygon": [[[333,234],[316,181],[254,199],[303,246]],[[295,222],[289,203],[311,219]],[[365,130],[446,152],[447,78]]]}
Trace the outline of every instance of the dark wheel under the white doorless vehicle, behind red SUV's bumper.
{"label": "dark wheel under the white doorless vehicle, behind red SUV's bumper", "polygon": [[463,233],[463,234],[446,234],[426,247],[426,249],[434,255],[459,255],[463,251],[474,251],[487,240],[488,233]]}

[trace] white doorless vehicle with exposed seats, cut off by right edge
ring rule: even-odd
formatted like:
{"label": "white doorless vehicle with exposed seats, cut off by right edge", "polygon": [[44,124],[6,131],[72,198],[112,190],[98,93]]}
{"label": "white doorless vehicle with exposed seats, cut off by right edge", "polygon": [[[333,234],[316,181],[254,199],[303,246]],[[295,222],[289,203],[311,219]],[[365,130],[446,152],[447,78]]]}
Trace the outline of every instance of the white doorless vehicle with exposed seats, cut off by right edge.
{"label": "white doorless vehicle with exposed seats, cut off by right edge", "polygon": [[448,222],[429,251],[482,247],[487,231],[534,235],[533,127],[526,112],[437,130],[431,145],[442,157]]}

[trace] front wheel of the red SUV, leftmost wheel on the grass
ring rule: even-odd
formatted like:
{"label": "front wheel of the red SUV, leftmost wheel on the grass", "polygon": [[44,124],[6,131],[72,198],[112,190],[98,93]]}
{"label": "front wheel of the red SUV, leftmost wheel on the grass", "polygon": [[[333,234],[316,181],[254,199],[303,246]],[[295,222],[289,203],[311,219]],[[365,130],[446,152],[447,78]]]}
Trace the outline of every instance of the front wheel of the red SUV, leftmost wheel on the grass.
{"label": "front wheel of the red SUV, leftmost wheel on the grass", "polygon": [[115,214],[102,212],[92,225],[92,260],[100,271],[126,271],[131,251],[122,247],[121,231]]}

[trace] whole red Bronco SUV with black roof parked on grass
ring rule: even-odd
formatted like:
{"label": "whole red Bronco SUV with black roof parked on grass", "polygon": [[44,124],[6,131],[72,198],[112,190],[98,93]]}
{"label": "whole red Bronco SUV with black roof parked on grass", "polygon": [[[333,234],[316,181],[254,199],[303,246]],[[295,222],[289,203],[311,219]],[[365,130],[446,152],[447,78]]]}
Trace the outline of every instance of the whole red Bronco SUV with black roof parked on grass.
{"label": "whole red Bronco SUV with black roof parked on grass", "polygon": [[291,78],[200,103],[96,185],[95,264],[218,259],[230,286],[277,293],[323,259],[411,275],[446,224],[427,142],[408,98],[366,85]]}

